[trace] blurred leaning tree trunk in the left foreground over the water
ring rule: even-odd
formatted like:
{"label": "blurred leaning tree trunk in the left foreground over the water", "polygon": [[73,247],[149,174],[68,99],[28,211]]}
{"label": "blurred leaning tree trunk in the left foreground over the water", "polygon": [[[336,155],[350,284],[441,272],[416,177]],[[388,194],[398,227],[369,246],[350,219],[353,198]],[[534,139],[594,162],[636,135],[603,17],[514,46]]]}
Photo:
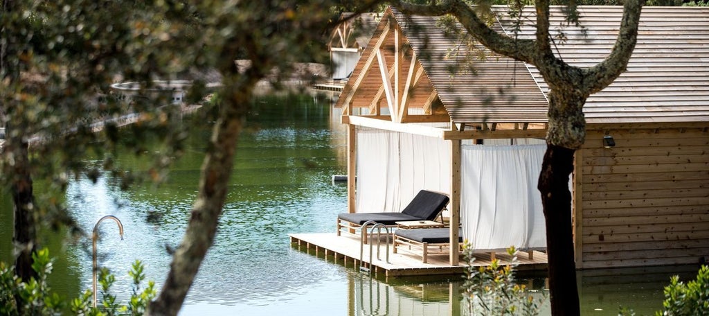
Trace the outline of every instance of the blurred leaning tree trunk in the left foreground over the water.
{"label": "blurred leaning tree trunk in the left foreground over the water", "polygon": [[224,104],[202,165],[199,195],[160,296],[150,303],[146,315],[177,315],[207,250],[214,242],[247,104],[259,79],[250,77],[248,82],[240,83],[224,81]]}

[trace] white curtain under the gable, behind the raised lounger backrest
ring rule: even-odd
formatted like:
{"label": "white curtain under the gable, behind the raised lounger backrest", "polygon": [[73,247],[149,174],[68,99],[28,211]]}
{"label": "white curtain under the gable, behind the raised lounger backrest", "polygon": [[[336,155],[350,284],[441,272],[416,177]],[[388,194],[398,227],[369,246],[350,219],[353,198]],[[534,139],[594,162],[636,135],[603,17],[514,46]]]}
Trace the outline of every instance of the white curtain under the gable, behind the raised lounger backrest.
{"label": "white curtain under the gable, behind the raised lounger backrest", "polygon": [[419,190],[450,194],[450,142],[357,128],[357,212],[401,212]]}

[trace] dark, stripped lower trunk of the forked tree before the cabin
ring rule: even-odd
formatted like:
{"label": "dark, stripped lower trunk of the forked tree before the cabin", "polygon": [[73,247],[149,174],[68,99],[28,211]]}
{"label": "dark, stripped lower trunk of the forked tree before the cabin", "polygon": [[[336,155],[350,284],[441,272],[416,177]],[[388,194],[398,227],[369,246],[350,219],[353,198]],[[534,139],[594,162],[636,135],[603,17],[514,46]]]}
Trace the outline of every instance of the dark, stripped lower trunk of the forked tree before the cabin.
{"label": "dark, stripped lower trunk of the forked tree before the cabin", "polygon": [[574,170],[574,150],[547,145],[538,189],[542,193],[547,224],[549,296],[552,315],[580,315],[576,288],[574,236],[571,222],[569,175]]}

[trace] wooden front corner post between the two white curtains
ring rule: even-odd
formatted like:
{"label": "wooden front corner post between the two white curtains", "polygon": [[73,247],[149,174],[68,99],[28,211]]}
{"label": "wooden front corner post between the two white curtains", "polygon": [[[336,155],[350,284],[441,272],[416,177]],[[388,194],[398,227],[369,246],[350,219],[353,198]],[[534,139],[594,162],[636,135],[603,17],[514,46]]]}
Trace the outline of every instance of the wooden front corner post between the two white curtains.
{"label": "wooden front corner post between the two white curtains", "polygon": [[451,141],[450,155],[450,265],[458,265],[460,246],[458,243],[458,230],[460,227],[460,140]]}

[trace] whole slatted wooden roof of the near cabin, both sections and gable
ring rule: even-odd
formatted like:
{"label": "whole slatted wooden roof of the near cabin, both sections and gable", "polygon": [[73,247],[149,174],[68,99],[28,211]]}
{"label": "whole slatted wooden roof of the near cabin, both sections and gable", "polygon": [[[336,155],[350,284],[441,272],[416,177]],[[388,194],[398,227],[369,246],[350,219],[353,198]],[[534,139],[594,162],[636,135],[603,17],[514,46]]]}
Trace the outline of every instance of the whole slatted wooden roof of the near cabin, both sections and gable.
{"label": "whole slatted wooden roof of the near cabin, both sections and gable", "polygon": [[[498,16],[493,29],[515,36],[509,31],[513,21],[506,16],[508,8],[498,6],[493,11]],[[564,13],[559,6],[550,11],[552,33],[558,33],[554,26],[563,23]],[[555,53],[571,65],[595,65],[613,48],[623,8],[581,6],[579,12],[588,36],[581,28],[565,26],[566,41],[555,41]],[[518,37],[534,37],[534,14],[533,7],[525,9],[527,23],[523,23]],[[395,67],[392,65],[396,51],[401,55],[396,66],[401,75],[390,75],[399,79],[390,78],[388,83],[393,91],[407,94],[406,108],[402,105],[406,111],[423,108],[424,115],[440,114],[432,110],[435,106],[431,100],[435,99],[433,103],[442,104],[444,115],[453,123],[547,121],[549,87],[535,67],[481,46],[478,48],[486,52],[486,58],[474,61],[471,68],[461,67],[470,60],[464,54],[454,54],[454,50],[466,48],[459,47],[459,38],[447,34],[438,21],[437,17],[405,16],[396,9],[387,9],[337,106],[369,108],[370,114],[377,107],[386,107],[386,97],[381,92],[382,74],[384,68],[391,73]],[[401,34],[400,43],[392,33]],[[416,59],[415,65],[409,64],[412,58]],[[386,65],[379,65],[379,60]],[[423,75],[405,89],[406,74],[415,77],[418,69],[423,69]],[[401,97],[393,99],[398,102]],[[584,113],[589,124],[709,121],[709,8],[644,7],[627,72],[591,95]]]}

